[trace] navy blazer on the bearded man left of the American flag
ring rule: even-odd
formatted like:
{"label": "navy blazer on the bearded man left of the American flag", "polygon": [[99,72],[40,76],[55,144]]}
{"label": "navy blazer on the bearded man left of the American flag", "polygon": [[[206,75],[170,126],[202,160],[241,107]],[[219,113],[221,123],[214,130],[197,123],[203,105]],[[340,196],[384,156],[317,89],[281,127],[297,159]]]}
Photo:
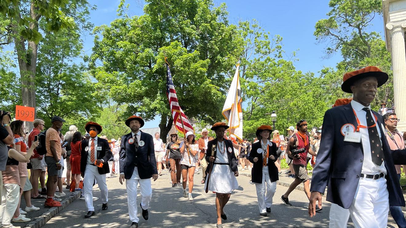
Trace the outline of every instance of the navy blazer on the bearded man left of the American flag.
{"label": "navy blazer on the bearded man left of the American flag", "polygon": [[152,135],[140,132],[140,141],[144,141],[145,144],[138,146],[137,151],[135,151],[134,143],[128,142],[132,138],[131,132],[121,137],[120,173],[124,173],[125,179],[131,178],[134,167],[137,167],[138,176],[141,179],[148,179],[152,177],[152,174],[158,174]]}

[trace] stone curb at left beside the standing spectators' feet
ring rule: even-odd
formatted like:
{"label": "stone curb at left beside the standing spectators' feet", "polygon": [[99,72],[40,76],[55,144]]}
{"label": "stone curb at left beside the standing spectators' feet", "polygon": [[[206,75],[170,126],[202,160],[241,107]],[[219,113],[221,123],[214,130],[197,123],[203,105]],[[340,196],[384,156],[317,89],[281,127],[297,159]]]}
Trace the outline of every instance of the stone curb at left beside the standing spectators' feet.
{"label": "stone curb at left beside the standing spectators' feet", "polygon": [[71,195],[69,195],[65,200],[62,200],[60,204],[62,206],[60,207],[52,207],[39,217],[33,218],[32,221],[30,221],[25,228],[40,228],[41,226],[45,225],[52,217],[63,211],[65,207],[67,207],[71,202],[79,198],[80,192],[73,192]]}

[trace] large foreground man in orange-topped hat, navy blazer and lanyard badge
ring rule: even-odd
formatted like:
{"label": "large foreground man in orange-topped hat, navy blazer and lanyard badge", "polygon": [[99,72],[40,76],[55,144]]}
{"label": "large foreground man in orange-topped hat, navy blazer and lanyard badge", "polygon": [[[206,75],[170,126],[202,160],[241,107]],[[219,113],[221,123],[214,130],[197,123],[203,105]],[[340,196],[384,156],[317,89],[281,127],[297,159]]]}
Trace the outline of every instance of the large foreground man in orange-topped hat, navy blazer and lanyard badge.
{"label": "large foreground man in orange-topped hat, navy blazer and lanyard badge", "polygon": [[350,104],[324,114],[323,137],[313,170],[309,215],[315,202],[349,208],[355,227],[386,227],[389,205],[405,206],[394,165],[406,163],[406,150],[391,150],[382,116],[371,111],[377,88],[388,80],[378,67],[344,74],[341,89],[353,93]]}

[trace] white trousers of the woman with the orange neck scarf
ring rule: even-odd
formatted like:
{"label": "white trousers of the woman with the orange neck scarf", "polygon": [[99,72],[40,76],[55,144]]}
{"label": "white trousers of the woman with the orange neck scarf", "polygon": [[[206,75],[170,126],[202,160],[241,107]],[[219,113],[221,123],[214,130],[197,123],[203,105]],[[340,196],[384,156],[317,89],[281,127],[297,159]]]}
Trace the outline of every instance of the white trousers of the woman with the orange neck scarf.
{"label": "white trousers of the woman with the orange neck scarf", "polygon": [[276,181],[271,182],[268,166],[262,168],[262,183],[255,183],[255,188],[257,189],[259,213],[265,213],[266,208],[271,207],[272,198],[276,192]]}

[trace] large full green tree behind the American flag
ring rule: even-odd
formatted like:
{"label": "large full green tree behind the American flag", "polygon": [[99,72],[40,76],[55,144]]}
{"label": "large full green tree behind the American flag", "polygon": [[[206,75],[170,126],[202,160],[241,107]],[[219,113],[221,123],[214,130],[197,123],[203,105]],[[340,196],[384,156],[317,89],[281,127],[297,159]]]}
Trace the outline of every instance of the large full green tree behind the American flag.
{"label": "large full green tree behind the American flag", "polygon": [[[179,104],[189,118],[212,123],[221,109],[229,79],[225,72],[237,62],[235,25],[229,25],[225,4],[211,0],[148,0],[144,15],[125,15],[110,26],[95,28],[89,67],[97,88],[117,104],[128,104],[123,116],[138,113],[145,120],[159,115],[161,138],[173,119],[166,98],[166,67],[171,65]],[[102,35],[102,39],[98,34]]]}

